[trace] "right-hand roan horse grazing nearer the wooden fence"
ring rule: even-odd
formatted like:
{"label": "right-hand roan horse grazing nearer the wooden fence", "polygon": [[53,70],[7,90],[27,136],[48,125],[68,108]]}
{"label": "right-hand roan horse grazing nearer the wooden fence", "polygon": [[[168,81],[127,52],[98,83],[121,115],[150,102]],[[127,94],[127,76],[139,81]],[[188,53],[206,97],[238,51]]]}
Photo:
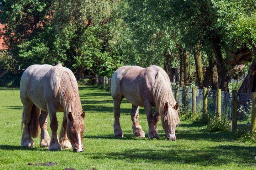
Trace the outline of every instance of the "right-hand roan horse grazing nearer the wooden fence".
{"label": "right-hand roan horse grazing nearer the wooden fence", "polygon": [[[120,104],[125,97],[132,103],[130,114],[135,136],[145,137],[145,132],[139,124],[139,107],[143,106],[149,125],[149,138],[159,138],[157,126],[161,117],[167,140],[176,140],[175,128],[180,122],[178,103],[172,94],[170,79],[162,68],[158,66],[118,68],[111,78],[111,95],[114,102],[113,126],[116,137],[123,137],[119,117]],[[152,107],[156,107],[154,115]]]}

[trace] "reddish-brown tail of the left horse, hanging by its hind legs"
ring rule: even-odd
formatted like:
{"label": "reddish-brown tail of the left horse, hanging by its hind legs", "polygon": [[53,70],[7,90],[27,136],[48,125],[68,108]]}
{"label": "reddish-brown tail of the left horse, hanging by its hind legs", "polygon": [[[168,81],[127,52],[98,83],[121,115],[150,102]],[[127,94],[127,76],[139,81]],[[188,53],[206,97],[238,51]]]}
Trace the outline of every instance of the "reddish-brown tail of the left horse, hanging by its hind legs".
{"label": "reddish-brown tail of the left horse, hanging by its hind legs", "polygon": [[[32,134],[33,138],[38,137],[40,132],[40,126],[39,126],[40,114],[41,114],[41,109],[39,109],[33,104],[33,107],[31,109],[30,125],[28,127],[29,133]],[[23,129],[23,118],[24,118],[24,112],[22,113],[21,129]]]}

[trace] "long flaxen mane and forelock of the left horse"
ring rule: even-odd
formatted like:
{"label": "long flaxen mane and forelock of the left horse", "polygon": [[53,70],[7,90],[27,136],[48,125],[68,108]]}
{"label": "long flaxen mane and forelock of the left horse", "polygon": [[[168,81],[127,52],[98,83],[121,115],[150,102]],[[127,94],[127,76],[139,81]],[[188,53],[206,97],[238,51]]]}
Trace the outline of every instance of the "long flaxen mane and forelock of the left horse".
{"label": "long flaxen mane and forelock of the left horse", "polygon": [[63,106],[68,119],[68,114],[71,112],[74,119],[74,128],[79,130],[84,125],[81,119],[82,106],[78,91],[78,83],[74,74],[68,68],[57,64],[51,69],[55,75],[55,97],[59,96],[60,105]]}

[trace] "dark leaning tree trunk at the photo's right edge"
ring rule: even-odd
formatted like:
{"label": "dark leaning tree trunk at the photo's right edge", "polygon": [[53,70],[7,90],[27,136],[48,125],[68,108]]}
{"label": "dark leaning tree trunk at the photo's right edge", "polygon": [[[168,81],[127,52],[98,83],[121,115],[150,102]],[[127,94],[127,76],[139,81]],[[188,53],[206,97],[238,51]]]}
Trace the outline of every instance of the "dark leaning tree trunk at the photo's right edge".
{"label": "dark leaning tree trunk at the photo's right edge", "polygon": [[256,62],[252,62],[248,73],[238,92],[251,94],[256,91]]}

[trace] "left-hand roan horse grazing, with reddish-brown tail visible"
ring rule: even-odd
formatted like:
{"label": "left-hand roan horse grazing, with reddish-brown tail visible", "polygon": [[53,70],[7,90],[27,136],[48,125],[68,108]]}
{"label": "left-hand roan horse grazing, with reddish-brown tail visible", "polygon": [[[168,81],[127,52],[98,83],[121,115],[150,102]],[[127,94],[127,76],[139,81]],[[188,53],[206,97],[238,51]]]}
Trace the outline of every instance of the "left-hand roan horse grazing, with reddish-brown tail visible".
{"label": "left-hand roan horse grazing, with reddish-brown tail visible", "polygon": [[[32,136],[39,135],[40,127],[40,147],[49,147],[49,151],[71,147],[75,152],[84,151],[82,133],[85,112],[82,112],[78,84],[70,69],[61,64],[28,67],[21,77],[20,98],[23,104],[22,129],[24,124],[21,146],[33,147]],[[60,142],[56,112],[64,112]],[[51,139],[47,132],[48,113]]]}

